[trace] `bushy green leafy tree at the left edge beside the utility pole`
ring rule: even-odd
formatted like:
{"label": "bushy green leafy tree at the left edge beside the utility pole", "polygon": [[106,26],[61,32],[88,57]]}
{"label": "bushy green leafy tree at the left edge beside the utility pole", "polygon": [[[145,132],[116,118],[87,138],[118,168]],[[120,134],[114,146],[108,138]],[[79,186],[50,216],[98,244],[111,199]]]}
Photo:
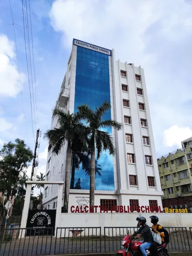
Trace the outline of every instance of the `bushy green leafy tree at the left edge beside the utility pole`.
{"label": "bushy green leafy tree at the left edge beside the utility pole", "polygon": [[24,140],[17,138],[14,143],[4,144],[0,150],[0,191],[7,190],[9,195],[12,184],[16,186],[20,173],[29,167],[32,159],[32,150]]}

